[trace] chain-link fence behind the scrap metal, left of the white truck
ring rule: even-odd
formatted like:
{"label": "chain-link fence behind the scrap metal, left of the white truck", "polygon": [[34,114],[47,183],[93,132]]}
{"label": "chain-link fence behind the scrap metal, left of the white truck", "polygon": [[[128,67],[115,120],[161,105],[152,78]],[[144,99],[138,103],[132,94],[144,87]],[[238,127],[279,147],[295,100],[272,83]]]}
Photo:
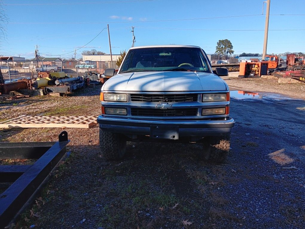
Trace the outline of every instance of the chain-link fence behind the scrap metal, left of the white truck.
{"label": "chain-link fence behind the scrap metal, left of the white truck", "polygon": [[[52,67],[50,67],[52,66]],[[119,67],[116,61],[13,61],[0,60],[0,68],[5,83],[19,79],[33,79],[38,77],[38,71],[63,71],[68,76],[82,76],[86,71],[96,71],[103,74],[107,68]],[[43,70],[42,70],[43,68]]]}

